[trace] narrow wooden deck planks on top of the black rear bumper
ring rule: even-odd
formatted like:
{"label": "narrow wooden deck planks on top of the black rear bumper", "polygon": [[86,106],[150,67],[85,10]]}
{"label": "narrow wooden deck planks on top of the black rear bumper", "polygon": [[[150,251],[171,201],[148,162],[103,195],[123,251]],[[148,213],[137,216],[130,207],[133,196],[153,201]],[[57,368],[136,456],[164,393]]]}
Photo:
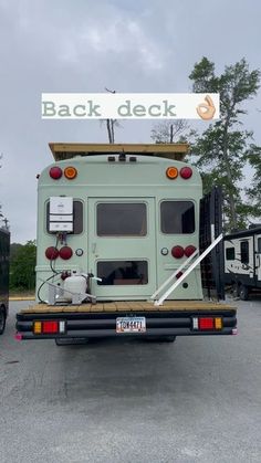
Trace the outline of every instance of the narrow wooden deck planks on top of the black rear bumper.
{"label": "narrow wooden deck planks on top of the black rear bumper", "polygon": [[103,312],[190,312],[190,311],[231,311],[234,306],[207,301],[166,301],[161,306],[155,306],[153,302],[128,301],[114,303],[81,304],[81,305],[48,305],[34,304],[21,311],[22,314],[53,314],[53,313],[103,313]]}

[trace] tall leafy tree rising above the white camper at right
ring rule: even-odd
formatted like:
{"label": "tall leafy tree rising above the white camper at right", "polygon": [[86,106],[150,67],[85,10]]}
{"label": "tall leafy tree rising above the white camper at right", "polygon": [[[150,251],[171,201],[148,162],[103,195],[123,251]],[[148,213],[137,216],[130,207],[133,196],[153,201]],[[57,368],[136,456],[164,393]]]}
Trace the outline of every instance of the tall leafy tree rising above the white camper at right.
{"label": "tall leafy tree rising above the white camper at right", "polygon": [[257,95],[260,71],[249,71],[244,59],[234,65],[226,66],[217,76],[215,64],[202,57],[189,75],[196,93],[220,94],[220,119],[211,124],[194,145],[197,166],[203,172],[205,190],[211,185],[220,185],[223,190],[223,210],[228,230],[246,224],[250,214],[257,214],[253,206],[241,199],[243,167],[251,156],[252,131],[241,129],[240,120],[247,111],[242,104]]}

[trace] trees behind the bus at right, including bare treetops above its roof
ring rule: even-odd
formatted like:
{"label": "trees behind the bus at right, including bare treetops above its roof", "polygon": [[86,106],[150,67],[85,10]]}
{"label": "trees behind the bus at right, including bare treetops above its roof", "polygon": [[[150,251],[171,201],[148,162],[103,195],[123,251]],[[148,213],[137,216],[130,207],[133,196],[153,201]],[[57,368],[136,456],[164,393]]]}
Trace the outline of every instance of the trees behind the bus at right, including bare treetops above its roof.
{"label": "trees behind the bus at right, including bare treetops above its roof", "polygon": [[[222,188],[225,231],[244,229],[261,218],[261,147],[254,144],[253,131],[243,127],[246,103],[258,93],[260,71],[250,71],[242,59],[217,75],[215,63],[202,57],[189,78],[195,93],[220,94],[220,119],[202,134],[189,129],[185,120],[164,122],[153,128],[152,138],[156,143],[188,141],[205,192],[215,185]],[[252,167],[253,177],[243,187],[247,166]]]}

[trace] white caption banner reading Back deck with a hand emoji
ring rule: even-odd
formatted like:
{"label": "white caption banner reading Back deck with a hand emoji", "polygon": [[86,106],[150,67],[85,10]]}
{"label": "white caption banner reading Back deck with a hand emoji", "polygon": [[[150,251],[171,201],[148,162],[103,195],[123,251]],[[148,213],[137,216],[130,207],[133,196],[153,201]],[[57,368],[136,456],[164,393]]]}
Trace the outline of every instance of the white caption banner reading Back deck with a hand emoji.
{"label": "white caption banner reading Back deck with a hand emoji", "polygon": [[43,93],[43,119],[219,118],[218,93]]}

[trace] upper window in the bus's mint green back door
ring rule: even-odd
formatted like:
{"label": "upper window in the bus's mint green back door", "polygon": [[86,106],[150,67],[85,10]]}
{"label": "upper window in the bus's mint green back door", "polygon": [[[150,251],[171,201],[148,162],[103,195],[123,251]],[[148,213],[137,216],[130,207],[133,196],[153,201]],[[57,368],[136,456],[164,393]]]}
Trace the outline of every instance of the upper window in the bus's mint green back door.
{"label": "upper window in the bus's mint green back door", "polygon": [[145,236],[146,204],[103,202],[97,204],[98,236]]}

